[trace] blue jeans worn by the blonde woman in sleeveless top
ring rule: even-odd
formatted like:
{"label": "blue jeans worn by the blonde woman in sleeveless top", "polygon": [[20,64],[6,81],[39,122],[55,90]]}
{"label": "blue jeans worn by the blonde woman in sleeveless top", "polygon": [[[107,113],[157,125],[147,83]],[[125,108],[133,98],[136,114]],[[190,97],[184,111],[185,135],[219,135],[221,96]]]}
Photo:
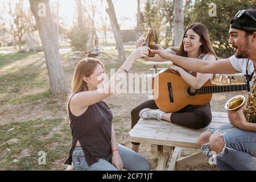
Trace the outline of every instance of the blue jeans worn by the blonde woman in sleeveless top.
{"label": "blue jeans worn by the blonde woman in sleeveless top", "polygon": [[[123,168],[131,171],[150,171],[150,163],[137,152],[118,144],[119,154],[122,158]],[[72,154],[73,166],[78,171],[118,171],[110,159],[100,159],[97,163],[88,166],[82,147],[75,147]]]}

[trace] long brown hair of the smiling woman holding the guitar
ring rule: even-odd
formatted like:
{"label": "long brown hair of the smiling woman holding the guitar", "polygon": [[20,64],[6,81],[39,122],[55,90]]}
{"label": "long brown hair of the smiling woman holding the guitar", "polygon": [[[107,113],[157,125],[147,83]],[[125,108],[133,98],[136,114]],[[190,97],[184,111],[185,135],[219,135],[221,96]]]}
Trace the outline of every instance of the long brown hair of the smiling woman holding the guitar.
{"label": "long brown hair of the smiling woman holding the guitar", "polygon": [[216,57],[216,59],[218,59],[212,44],[210,43],[210,37],[209,37],[209,32],[207,27],[205,27],[204,24],[201,23],[195,23],[195,24],[191,24],[191,26],[189,26],[183,35],[183,39],[180,43],[179,48],[172,48],[174,51],[177,51],[176,55],[178,56],[183,56],[183,57],[188,57],[188,53],[185,52],[184,50],[184,44],[183,44],[183,40],[185,38],[185,35],[187,34],[187,31],[191,29],[194,32],[196,32],[196,34],[198,34],[200,36],[200,42],[202,43],[202,45],[199,48],[199,52],[197,57],[201,56],[202,54],[206,54],[209,53],[210,55],[213,55]]}

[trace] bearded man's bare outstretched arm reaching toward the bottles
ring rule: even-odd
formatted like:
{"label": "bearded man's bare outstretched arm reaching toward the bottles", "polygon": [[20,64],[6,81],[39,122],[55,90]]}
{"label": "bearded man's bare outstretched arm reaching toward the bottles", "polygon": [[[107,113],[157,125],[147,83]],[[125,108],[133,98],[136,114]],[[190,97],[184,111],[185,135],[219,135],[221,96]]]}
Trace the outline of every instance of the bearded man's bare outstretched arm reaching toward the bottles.
{"label": "bearded man's bare outstretched arm reaching toward the bottles", "polygon": [[151,49],[152,52],[157,53],[162,59],[171,60],[173,63],[179,65],[184,69],[200,73],[224,73],[233,74],[238,73],[232,66],[229,59],[220,59],[218,61],[203,61],[200,59],[182,57],[173,55],[165,51],[158,45],[158,50]]}

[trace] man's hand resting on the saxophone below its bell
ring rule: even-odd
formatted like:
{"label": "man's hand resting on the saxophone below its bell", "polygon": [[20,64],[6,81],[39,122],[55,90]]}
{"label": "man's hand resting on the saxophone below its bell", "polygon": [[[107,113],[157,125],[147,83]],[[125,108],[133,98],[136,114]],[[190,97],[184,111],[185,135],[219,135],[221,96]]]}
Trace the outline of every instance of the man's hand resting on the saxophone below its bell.
{"label": "man's hand resting on the saxophone below its bell", "polygon": [[228,111],[228,118],[230,123],[241,130],[245,130],[245,125],[247,123],[245,115],[243,114],[243,109],[245,109],[245,107],[246,103],[239,107],[236,111]]}

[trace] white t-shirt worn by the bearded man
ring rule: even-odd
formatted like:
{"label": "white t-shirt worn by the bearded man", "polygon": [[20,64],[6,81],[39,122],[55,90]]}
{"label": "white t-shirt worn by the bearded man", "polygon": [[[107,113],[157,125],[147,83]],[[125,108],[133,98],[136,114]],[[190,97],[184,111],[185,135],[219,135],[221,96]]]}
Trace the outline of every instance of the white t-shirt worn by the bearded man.
{"label": "white t-shirt worn by the bearded man", "polygon": [[[229,57],[229,61],[234,67],[234,69],[236,69],[238,72],[243,73],[244,75],[246,74],[246,65],[247,65],[248,59],[237,58],[235,55],[233,55]],[[251,73],[253,73],[253,70],[254,70],[253,61],[249,60],[247,69],[248,69],[248,74],[251,75]],[[250,86],[253,86],[253,78],[250,81]]]}

